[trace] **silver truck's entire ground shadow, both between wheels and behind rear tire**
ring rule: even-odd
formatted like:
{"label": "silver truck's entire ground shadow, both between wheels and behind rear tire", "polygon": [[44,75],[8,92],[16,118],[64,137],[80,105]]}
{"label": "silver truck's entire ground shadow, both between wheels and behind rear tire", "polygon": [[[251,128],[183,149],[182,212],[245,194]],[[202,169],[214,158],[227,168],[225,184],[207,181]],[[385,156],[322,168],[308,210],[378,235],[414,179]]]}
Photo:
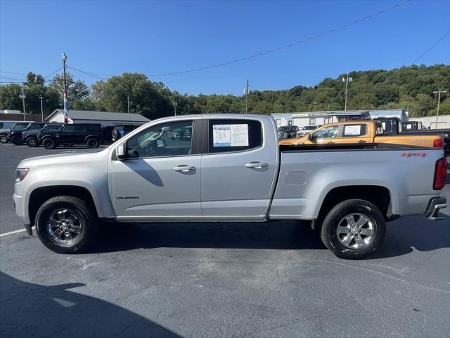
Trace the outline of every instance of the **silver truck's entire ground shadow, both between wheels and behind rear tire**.
{"label": "silver truck's entire ground shadow, both between wheels and behind rear tire", "polygon": [[[444,214],[441,214],[444,215]],[[370,258],[450,247],[450,217],[432,222],[411,216],[387,223],[385,242]],[[326,249],[308,223],[117,223],[103,225],[95,252],[157,247],[217,249]]]}

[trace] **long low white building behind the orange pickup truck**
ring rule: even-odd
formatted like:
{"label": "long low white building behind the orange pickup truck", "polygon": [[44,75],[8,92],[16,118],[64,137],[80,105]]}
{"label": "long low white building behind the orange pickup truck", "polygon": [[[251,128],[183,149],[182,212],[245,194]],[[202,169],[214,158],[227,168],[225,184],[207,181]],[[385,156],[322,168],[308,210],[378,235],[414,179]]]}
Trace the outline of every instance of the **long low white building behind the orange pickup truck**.
{"label": "long low white building behind the orange pickup truck", "polygon": [[278,127],[282,125],[297,125],[302,128],[305,125],[326,125],[327,123],[370,120],[371,118],[399,118],[408,120],[408,113],[403,109],[374,109],[367,111],[316,111],[309,113],[273,113],[271,114]]}

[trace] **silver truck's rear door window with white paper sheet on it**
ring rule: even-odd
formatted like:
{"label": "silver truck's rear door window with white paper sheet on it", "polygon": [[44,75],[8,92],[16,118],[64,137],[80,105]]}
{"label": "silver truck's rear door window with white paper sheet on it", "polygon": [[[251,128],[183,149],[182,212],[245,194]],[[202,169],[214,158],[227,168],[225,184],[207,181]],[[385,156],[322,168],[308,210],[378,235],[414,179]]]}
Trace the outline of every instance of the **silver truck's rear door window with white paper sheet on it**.
{"label": "silver truck's rear door window with white paper sheet on it", "polygon": [[262,146],[262,125],[255,120],[210,120],[208,152],[245,151]]}

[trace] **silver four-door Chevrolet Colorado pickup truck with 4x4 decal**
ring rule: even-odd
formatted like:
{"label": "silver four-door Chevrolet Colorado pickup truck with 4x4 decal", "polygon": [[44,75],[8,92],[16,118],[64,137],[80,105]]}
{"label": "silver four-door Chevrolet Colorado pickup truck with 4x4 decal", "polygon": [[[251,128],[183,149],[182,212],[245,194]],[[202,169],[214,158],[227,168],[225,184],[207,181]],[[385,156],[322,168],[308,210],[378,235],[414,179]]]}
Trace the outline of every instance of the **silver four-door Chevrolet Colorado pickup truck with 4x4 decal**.
{"label": "silver four-door Chevrolet Colorado pickup truck with 4x4 decal", "polygon": [[442,219],[445,183],[442,149],[278,146],[270,116],[186,115],[96,152],[28,158],[13,199],[27,232],[36,225],[58,253],[86,251],[100,223],[307,220],[336,256],[355,259],[378,249],[389,220]]}

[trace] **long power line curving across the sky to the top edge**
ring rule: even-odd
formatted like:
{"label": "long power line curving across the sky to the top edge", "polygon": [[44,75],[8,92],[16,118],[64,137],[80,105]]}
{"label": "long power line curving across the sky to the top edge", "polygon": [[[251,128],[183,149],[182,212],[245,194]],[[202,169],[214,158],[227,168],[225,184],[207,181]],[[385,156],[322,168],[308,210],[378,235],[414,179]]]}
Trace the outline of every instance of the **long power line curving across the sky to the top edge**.
{"label": "long power line curving across the sky to the top edge", "polygon": [[368,20],[370,18],[373,18],[373,17],[375,17],[377,15],[380,15],[382,13],[385,13],[387,11],[392,11],[392,9],[397,8],[399,6],[403,6],[404,4],[407,4],[410,1],[411,0],[406,0],[406,1],[402,2],[402,3],[400,3],[400,4],[391,6],[389,8],[385,8],[382,11],[378,11],[378,12],[373,13],[371,15],[367,15],[364,18],[359,18],[358,20],[354,20],[351,23],[346,23],[345,25],[341,25],[341,26],[335,27],[335,28],[333,28],[331,30],[327,30],[326,32],[321,32],[321,33],[319,33],[317,35],[314,35],[314,36],[311,36],[311,37],[307,37],[306,39],[302,39],[300,41],[296,41],[296,42],[293,42],[291,44],[285,44],[284,46],[279,46],[279,47],[277,47],[275,49],[269,49],[268,51],[262,51],[261,53],[258,53],[258,54],[253,54],[251,56],[246,56],[245,58],[238,58],[238,59],[233,60],[233,61],[217,63],[216,65],[207,65],[205,67],[200,67],[200,68],[193,68],[193,69],[189,69],[189,70],[180,70],[179,72],[152,74],[152,75],[149,75],[149,76],[150,77],[158,77],[158,76],[176,75],[176,74],[183,74],[183,73],[193,73],[193,72],[197,72],[199,70],[205,70],[205,69],[210,69],[210,68],[222,67],[224,65],[231,65],[232,63],[238,63],[240,61],[250,60],[251,58],[257,58],[258,56],[263,56],[263,55],[266,55],[266,54],[274,53],[275,51],[281,51],[282,49],[286,49],[286,48],[295,46],[296,44],[302,44],[302,43],[307,42],[309,40],[316,39],[318,37],[323,37],[324,35],[328,35],[328,34],[330,34],[332,32],[336,32],[338,30],[341,30],[342,28],[349,27],[351,25],[355,25],[356,23],[361,23],[361,21]]}

